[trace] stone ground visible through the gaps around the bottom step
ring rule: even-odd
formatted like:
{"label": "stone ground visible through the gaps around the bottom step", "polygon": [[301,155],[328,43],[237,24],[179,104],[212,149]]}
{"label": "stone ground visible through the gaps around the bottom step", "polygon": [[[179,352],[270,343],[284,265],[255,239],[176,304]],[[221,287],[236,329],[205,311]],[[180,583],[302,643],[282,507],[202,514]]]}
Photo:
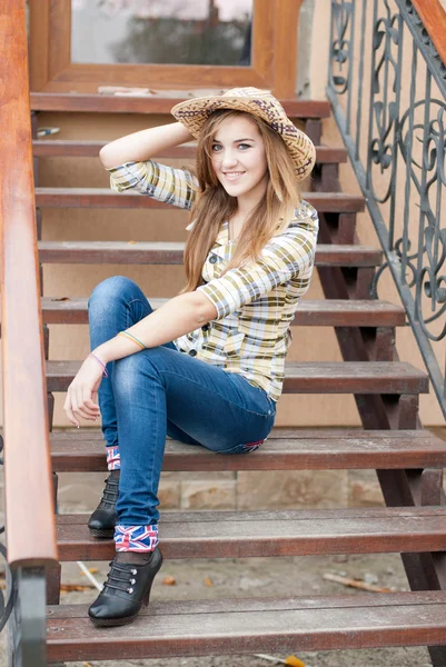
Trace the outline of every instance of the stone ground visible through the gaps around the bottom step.
{"label": "stone ground visible through the gaps around the bottom step", "polygon": [[[99,569],[95,577],[102,583],[108,569],[107,564],[92,563],[89,564],[89,567]],[[344,593],[357,595],[354,589],[326,581],[323,578],[326,573],[365,578],[378,586],[407,590],[399,556],[394,554],[240,560],[170,560],[165,561],[155,581],[151,599],[285,597]],[[163,584],[167,577],[174,577],[176,584],[171,586]],[[67,564],[62,570],[62,584],[85,585],[87,581],[76,564]],[[95,590],[63,593],[61,601],[62,604],[87,605],[95,599],[96,595]],[[287,655],[284,653],[277,657],[284,659]],[[306,667],[366,667],[371,665],[374,667],[428,667],[430,665],[427,650],[423,647],[316,653],[300,653],[296,649],[295,655],[304,661]],[[70,667],[268,667],[274,663],[245,655],[118,661],[93,660],[91,663],[70,663],[69,665]],[[0,653],[0,667],[7,667],[4,648]]]}

